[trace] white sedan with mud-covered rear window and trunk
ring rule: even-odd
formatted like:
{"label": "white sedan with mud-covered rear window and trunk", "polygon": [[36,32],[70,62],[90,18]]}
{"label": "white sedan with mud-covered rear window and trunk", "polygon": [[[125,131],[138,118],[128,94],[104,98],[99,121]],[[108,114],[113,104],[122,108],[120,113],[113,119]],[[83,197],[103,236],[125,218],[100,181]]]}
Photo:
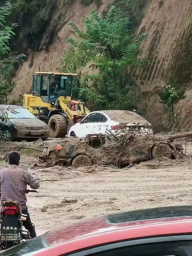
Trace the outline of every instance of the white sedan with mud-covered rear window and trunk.
{"label": "white sedan with mud-covered rear window and trunk", "polygon": [[109,134],[119,131],[144,132],[153,134],[151,124],[140,115],[125,110],[94,111],[78,120],[68,136],[86,137],[88,134]]}

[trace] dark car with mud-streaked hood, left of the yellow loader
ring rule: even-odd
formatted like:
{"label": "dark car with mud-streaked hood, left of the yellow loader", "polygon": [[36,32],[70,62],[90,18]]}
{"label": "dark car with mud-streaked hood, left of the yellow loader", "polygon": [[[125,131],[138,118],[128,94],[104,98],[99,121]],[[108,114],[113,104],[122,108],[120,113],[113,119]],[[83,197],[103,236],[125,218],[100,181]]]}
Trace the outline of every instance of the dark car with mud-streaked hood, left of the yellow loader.
{"label": "dark car with mud-streaked hood, left of the yellow loader", "polygon": [[48,125],[18,105],[0,105],[0,131],[5,140],[48,138]]}

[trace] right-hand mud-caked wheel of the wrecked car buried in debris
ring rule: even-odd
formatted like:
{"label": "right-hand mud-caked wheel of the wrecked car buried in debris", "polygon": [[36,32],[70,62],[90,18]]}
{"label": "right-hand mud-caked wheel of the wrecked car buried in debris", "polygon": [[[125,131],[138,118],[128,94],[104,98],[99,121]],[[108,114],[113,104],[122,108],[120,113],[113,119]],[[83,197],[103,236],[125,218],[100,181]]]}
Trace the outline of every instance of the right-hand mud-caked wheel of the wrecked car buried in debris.
{"label": "right-hand mud-caked wheel of the wrecked car buried in debris", "polygon": [[165,143],[155,145],[151,150],[152,159],[172,158],[172,149]]}

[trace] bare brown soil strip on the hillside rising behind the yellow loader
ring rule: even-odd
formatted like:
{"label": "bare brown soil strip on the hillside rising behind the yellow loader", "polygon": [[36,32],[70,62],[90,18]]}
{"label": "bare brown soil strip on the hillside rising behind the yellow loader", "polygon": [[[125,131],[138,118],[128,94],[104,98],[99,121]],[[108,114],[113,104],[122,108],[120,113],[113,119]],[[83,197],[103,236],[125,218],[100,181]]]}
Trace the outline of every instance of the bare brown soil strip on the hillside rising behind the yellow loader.
{"label": "bare brown soil strip on the hillside rising behind the yellow loader", "polygon": [[[69,21],[74,22],[80,29],[83,28],[83,19],[85,16],[90,15],[92,9],[96,9],[100,15],[109,8],[109,4],[112,0],[105,0],[103,4],[98,8],[96,4],[85,6],[80,3],[79,0],[67,0],[60,1],[60,13],[56,14],[55,19],[62,17],[59,24],[58,33],[55,35],[53,43],[50,45],[49,50],[46,49],[40,52],[29,52],[27,61],[23,62],[15,76],[16,87],[10,95],[9,100],[18,99],[20,95],[29,93],[32,89],[32,76],[38,71],[59,71],[60,60],[63,56],[64,50],[68,48],[66,39],[69,37],[75,37],[74,31],[71,26],[68,25]],[[59,18],[60,19],[60,18]],[[54,26],[54,19],[52,20]],[[51,28],[50,28],[51,29]],[[55,30],[58,27],[55,28]],[[48,31],[47,31],[48,33]],[[42,48],[46,45],[46,33],[42,39]]]}

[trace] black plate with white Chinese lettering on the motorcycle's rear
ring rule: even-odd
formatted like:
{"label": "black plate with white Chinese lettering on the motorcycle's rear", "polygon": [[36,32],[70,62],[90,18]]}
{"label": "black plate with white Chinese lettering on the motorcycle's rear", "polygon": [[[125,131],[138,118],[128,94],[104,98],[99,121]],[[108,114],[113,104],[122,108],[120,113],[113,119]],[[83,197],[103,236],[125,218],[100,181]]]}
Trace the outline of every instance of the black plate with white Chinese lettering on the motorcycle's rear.
{"label": "black plate with white Chinese lettering on the motorcycle's rear", "polygon": [[1,218],[1,241],[17,241],[19,239],[18,216],[3,216]]}

